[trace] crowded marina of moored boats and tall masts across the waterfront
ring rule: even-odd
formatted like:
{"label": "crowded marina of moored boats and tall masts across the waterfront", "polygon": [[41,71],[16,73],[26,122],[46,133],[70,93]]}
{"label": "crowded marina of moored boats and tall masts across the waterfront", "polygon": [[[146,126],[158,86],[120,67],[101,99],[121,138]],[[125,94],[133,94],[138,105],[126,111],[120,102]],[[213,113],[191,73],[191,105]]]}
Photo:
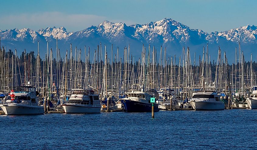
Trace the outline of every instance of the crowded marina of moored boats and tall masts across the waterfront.
{"label": "crowded marina of moored boats and tall masts across the waterfront", "polygon": [[[42,109],[45,113],[100,113],[257,108],[252,54],[251,61],[246,62],[240,42],[232,65],[227,63],[225,51],[221,56],[220,47],[217,62],[212,63],[208,44],[203,47],[198,65],[195,54],[192,65],[189,47],[182,48],[178,60],[167,56],[166,47],[164,51],[161,47],[157,59],[155,46],[143,44],[141,57],[135,61],[130,45],[115,51],[106,45],[103,50],[100,44],[90,57],[90,47],[85,46],[82,56],[82,50],[75,47],[74,52],[70,44],[69,53],[66,50],[62,57],[56,39],[55,52],[52,48],[49,51],[47,44],[41,59],[39,41],[37,44],[36,56],[24,50],[19,57],[16,51],[6,51],[6,47],[0,51],[0,107],[5,114],[36,114]],[[118,58],[120,53],[123,58]],[[24,97],[31,92],[33,97]],[[26,107],[31,105],[27,107],[29,111],[24,110],[25,103]],[[30,111],[33,109],[40,111]]]}

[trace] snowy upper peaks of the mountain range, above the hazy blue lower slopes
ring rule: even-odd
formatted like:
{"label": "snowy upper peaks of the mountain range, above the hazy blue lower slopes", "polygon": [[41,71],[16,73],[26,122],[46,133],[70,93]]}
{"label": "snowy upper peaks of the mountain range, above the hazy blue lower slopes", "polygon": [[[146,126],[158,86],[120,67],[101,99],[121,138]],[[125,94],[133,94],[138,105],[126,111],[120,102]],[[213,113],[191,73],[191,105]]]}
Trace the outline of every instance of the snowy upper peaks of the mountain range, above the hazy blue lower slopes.
{"label": "snowy upper peaks of the mountain range, above the hazy blue lower slopes", "polygon": [[160,45],[167,42],[185,44],[187,42],[194,43],[194,41],[198,41],[198,43],[218,43],[219,38],[224,38],[227,41],[232,42],[241,41],[244,43],[257,43],[257,27],[253,25],[241,26],[220,33],[212,32],[208,34],[202,30],[190,29],[188,26],[168,18],[144,25],[134,24],[131,26],[127,26],[125,23],[111,23],[109,21],[104,21],[98,26],[91,26],[75,33],[67,32],[64,27],[48,27],[38,31],[33,31],[28,28],[0,31],[0,36],[3,40],[26,39],[33,42],[37,40],[36,38],[39,35],[45,38],[50,37],[70,41],[71,39],[69,38],[71,35],[73,35],[73,39],[78,39],[89,37],[92,34],[108,39],[110,42],[125,36],[131,39],[137,39],[139,42],[145,41],[151,43],[154,41],[160,43]]}

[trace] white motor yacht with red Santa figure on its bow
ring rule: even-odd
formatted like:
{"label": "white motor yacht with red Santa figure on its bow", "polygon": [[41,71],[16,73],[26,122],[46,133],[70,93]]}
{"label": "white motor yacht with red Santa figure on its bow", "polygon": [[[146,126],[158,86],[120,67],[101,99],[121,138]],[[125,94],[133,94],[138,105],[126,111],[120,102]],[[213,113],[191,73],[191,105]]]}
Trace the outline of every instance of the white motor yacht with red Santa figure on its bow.
{"label": "white motor yacht with red Santa figure on its bow", "polygon": [[15,100],[8,99],[0,107],[6,115],[43,114],[44,107],[39,105],[36,89],[32,86],[14,88]]}

